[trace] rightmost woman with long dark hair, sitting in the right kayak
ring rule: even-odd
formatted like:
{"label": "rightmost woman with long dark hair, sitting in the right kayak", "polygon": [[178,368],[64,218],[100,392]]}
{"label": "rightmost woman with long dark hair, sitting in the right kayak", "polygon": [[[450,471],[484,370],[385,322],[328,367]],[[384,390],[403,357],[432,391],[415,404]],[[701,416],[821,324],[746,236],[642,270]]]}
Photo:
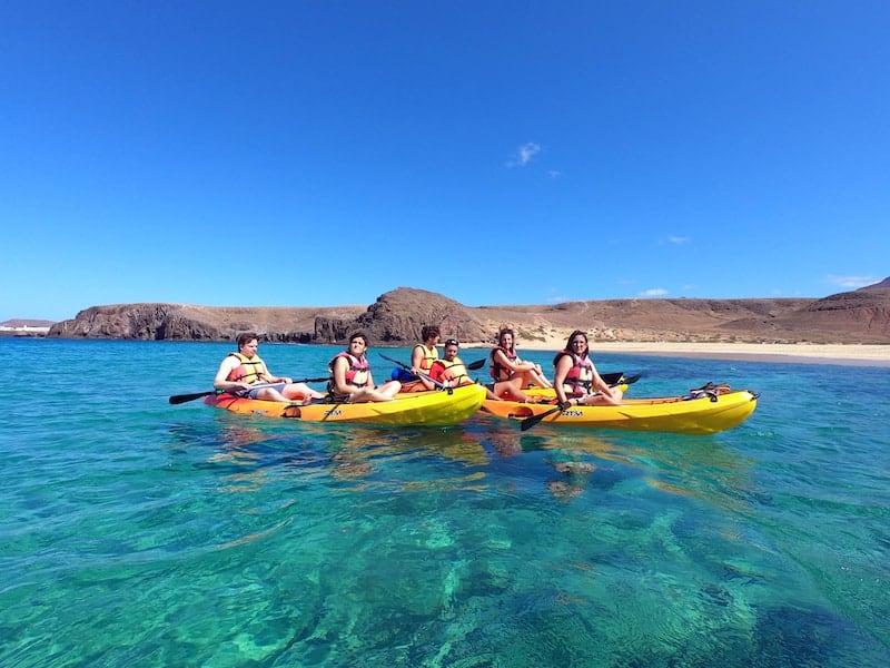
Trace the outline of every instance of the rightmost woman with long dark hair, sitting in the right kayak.
{"label": "rightmost woman with long dark hair, sitting in the right kayak", "polygon": [[553,387],[560,406],[621,405],[624,393],[617,387],[610,387],[600,376],[590,357],[585,332],[572,332],[565,350],[553,358]]}

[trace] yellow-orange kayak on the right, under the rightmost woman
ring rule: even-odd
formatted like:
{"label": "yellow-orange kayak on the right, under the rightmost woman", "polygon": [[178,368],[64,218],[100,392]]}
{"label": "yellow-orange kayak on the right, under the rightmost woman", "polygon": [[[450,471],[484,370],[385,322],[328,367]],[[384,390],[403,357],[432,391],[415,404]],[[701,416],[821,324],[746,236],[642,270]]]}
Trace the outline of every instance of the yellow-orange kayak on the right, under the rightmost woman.
{"label": "yellow-orange kayak on the right, under the rightmost woman", "polygon": [[738,426],[756,409],[756,395],[748,390],[726,394],[702,394],[692,399],[663,396],[625,399],[620,406],[572,406],[560,411],[553,404],[527,404],[486,400],[482,410],[497,418],[522,420],[525,431],[535,424],[624,429],[631,431],[713,434]]}

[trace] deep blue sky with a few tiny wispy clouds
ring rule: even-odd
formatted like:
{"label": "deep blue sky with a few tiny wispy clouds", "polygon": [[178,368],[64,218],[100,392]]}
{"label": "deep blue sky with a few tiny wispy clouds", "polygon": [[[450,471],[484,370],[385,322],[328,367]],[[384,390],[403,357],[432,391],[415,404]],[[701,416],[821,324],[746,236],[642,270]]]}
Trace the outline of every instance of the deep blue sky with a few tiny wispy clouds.
{"label": "deep blue sky with a few tiny wispy clouds", "polygon": [[890,2],[0,4],[0,321],[890,275]]}

